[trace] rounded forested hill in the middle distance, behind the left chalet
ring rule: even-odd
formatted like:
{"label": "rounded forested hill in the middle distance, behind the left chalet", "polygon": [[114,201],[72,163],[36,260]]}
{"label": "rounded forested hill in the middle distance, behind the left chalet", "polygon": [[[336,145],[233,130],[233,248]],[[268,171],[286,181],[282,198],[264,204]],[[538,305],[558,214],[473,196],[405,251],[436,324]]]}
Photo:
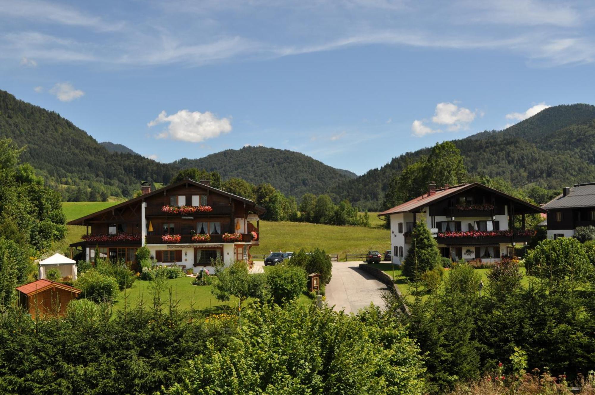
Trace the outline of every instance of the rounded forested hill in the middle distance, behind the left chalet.
{"label": "rounded forested hill in the middle distance, behind the left chalet", "polygon": [[253,146],[226,149],[199,159],[183,158],[172,165],[217,171],[224,180],[238,177],[252,184],[267,182],[285,195],[296,197],[304,193],[324,193],[340,181],[357,177],[355,173],[337,170],[303,153]]}

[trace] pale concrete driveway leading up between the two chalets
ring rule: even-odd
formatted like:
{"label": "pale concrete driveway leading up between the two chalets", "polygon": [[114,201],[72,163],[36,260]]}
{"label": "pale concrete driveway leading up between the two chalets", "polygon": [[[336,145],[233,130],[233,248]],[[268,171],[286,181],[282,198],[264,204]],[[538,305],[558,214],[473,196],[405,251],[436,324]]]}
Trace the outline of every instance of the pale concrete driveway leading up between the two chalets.
{"label": "pale concrete driveway leading up between the two chalets", "polygon": [[328,306],[336,311],[355,313],[374,303],[384,308],[381,295],[386,286],[374,277],[361,271],[362,262],[333,262],[333,277],[325,289]]}

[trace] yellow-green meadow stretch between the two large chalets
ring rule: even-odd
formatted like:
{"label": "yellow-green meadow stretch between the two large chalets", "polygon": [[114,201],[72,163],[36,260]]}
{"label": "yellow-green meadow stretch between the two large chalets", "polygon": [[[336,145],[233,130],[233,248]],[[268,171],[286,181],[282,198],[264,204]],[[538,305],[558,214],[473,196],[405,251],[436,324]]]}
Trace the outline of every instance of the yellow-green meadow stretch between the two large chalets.
{"label": "yellow-green meadow stretch between the two large chalets", "polygon": [[390,231],[379,228],[308,224],[307,222],[260,222],[261,242],[250,249],[252,255],[269,251],[313,250],[321,248],[330,254],[365,253],[390,249]]}

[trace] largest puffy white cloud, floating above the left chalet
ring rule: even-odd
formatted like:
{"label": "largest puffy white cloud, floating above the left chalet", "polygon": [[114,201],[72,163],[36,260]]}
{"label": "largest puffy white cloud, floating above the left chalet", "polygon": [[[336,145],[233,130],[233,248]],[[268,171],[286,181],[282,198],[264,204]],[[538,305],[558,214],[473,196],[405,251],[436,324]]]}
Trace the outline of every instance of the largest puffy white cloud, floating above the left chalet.
{"label": "largest puffy white cloud, floating above the left chalet", "polygon": [[174,140],[192,143],[199,143],[231,131],[231,121],[228,118],[217,118],[209,111],[190,112],[187,109],[181,109],[173,115],[167,115],[165,111],[161,111],[161,114],[147,126],[152,127],[161,123],[170,125],[167,131],[157,134],[156,138],[170,137]]}

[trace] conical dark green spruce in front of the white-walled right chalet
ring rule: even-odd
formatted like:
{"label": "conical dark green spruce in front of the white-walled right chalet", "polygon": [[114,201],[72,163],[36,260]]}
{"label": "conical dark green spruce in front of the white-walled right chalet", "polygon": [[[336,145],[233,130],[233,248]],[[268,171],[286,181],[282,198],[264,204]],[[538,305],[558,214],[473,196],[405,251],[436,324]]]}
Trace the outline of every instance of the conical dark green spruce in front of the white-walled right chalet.
{"label": "conical dark green spruce in front of the white-walled right chalet", "polygon": [[411,234],[411,247],[403,262],[403,275],[418,280],[426,271],[440,265],[440,250],[424,221],[415,225]]}

